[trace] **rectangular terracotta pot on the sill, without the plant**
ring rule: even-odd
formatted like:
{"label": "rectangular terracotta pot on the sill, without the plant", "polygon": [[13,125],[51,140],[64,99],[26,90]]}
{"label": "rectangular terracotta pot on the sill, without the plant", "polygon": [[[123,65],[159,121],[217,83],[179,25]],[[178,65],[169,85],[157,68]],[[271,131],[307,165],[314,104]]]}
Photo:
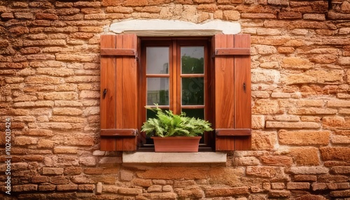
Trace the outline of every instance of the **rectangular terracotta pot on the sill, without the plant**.
{"label": "rectangular terracotta pot on the sill, without the plant", "polygon": [[201,136],[151,137],[155,152],[198,152]]}

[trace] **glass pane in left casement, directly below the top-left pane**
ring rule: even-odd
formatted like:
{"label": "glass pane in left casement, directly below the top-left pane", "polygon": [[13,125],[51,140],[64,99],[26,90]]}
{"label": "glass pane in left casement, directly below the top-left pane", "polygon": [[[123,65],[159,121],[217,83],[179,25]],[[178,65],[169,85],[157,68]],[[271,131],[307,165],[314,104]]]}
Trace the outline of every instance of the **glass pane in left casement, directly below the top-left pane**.
{"label": "glass pane in left casement, directly below the top-left pane", "polygon": [[147,106],[169,105],[169,78],[147,78]]}

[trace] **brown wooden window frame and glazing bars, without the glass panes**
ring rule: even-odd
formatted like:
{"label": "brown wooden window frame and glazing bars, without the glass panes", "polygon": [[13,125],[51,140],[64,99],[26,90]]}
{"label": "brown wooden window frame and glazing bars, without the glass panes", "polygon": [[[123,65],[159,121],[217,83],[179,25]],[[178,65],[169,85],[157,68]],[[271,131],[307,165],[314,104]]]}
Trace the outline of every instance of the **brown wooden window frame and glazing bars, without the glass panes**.
{"label": "brown wooden window frame and glazing bars, without the glass panes", "polygon": [[[214,113],[213,105],[211,102],[212,91],[211,87],[211,37],[140,37],[140,57],[139,57],[139,88],[141,88],[141,92],[139,92],[139,108],[140,108],[140,125],[143,122],[146,122],[146,79],[148,77],[157,77],[157,78],[169,78],[169,106],[159,106],[160,108],[167,108],[169,110],[173,110],[175,114],[181,113],[181,108],[195,108],[196,106],[183,106],[181,102],[181,78],[182,77],[203,77],[204,78],[204,106],[200,106],[204,108],[204,120],[212,122]],[[203,76],[200,74],[195,74],[195,76],[191,76],[191,74],[183,75],[181,73],[181,47],[186,46],[203,46],[204,47],[204,73]],[[146,75],[146,48],[147,47],[169,47],[169,74],[167,75],[157,75],[153,74],[151,76]],[[172,87],[170,85],[175,85]],[[151,106],[152,107],[152,106]],[[204,142],[200,143],[200,152],[208,152],[214,151],[214,131],[204,133]],[[138,151],[154,151],[153,145],[144,144],[145,143],[146,134],[143,132],[139,133],[139,149]]]}

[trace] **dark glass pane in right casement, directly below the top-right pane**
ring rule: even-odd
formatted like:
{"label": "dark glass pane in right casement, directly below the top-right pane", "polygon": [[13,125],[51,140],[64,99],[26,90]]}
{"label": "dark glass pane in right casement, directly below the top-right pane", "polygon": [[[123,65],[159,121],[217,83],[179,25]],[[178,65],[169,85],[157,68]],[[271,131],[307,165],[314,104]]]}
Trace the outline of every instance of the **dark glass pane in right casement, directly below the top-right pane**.
{"label": "dark glass pane in right casement, directly below the top-right pane", "polygon": [[182,105],[204,105],[204,78],[182,78]]}

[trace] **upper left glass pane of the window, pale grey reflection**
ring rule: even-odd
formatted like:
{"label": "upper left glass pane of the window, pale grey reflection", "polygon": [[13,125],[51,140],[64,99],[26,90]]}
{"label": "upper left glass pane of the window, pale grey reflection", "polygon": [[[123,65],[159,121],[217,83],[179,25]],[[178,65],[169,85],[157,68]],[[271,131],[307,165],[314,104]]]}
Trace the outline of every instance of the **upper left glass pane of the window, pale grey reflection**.
{"label": "upper left glass pane of the window, pale grey reflection", "polygon": [[147,74],[168,74],[169,47],[146,48]]}

